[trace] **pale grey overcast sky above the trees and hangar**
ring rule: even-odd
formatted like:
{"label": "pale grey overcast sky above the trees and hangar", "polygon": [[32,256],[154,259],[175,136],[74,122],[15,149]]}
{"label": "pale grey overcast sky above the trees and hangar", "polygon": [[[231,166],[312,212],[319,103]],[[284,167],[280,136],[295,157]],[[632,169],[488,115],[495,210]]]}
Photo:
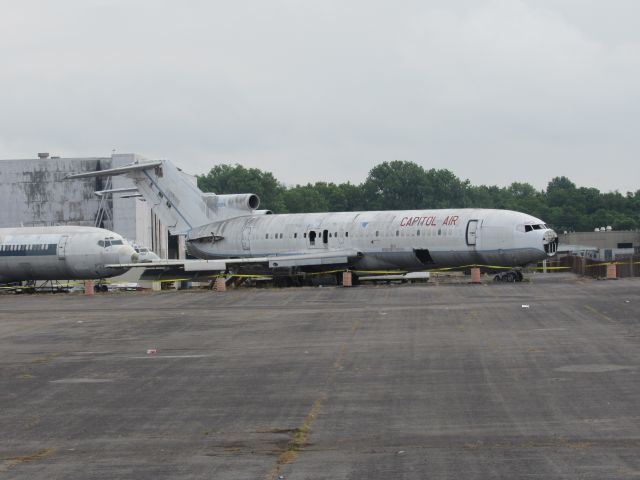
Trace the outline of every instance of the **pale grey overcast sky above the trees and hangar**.
{"label": "pale grey overcast sky above the trees and hangar", "polygon": [[0,0],[0,158],[640,189],[636,0]]}

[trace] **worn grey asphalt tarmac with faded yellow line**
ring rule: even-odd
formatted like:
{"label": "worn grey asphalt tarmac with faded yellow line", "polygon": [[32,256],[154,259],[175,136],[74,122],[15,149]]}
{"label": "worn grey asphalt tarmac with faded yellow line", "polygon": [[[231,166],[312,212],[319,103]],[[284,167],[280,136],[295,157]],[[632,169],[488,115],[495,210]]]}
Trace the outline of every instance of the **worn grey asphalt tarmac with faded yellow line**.
{"label": "worn grey asphalt tarmac with faded yellow line", "polygon": [[639,379],[640,279],[1,295],[0,479],[637,479]]}

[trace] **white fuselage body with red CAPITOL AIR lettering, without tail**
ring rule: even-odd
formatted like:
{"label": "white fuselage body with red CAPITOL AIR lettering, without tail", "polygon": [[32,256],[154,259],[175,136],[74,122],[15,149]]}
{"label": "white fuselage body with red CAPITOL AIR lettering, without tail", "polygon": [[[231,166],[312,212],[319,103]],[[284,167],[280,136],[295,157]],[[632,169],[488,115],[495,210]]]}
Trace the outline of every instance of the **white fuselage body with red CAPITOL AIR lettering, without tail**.
{"label": "white fuselage body with red CAPITOL AIR lettering, without tail", "polygon": [[492,209],[248,215],[189,232],[198,258],[261,257],[354,249],[362,269],[483,264],[521,266],[553,255],[557,235],[540,219]]}

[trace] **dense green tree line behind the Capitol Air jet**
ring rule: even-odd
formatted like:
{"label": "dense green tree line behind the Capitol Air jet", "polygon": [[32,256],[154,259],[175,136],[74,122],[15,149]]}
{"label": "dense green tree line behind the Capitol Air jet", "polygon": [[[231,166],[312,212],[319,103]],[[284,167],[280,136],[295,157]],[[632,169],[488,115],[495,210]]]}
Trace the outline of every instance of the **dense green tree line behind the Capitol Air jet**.
{"label": "dense green tree line behind the Capitol Air jet", "polygon": [[543,219],[559,231],[589,231],[612,226],[640,228],[640,190],[601,192],[577,187],[567,177],[555,177],[545,190],[529,183],[508,187],[471,185],[447,169],[425,169],[394,160],[375,166],[364,182],[316,182],[285,186],[271,172],[242,165],[216,165],[198,176],[205,192],[255,193],[262,208],[274,213],[344,212],[427,208],[501,208]]}

